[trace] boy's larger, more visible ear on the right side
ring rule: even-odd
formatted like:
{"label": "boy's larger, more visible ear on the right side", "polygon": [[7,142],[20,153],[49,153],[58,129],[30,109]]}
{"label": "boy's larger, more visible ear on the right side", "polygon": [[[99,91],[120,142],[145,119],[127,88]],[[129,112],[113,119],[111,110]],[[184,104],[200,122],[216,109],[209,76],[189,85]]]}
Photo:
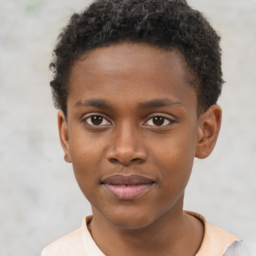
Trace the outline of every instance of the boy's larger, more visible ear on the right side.
{"label": "boy's larger, more visible ear on the right side", "polygon": [[221,108],[210,106],[199,116],[195,157],[205,158],[213,150],[221,124]]}

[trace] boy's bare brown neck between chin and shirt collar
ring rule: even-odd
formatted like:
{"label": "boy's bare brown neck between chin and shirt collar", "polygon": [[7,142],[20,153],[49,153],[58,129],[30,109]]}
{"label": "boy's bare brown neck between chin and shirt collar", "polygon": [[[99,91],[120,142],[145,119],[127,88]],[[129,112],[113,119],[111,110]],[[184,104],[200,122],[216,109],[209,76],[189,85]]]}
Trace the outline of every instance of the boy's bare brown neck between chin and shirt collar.
{"label": "boy's bare brown neck between chin and shirt collar", "polygon": [[[195,255],[202,237],[202,223],[181,210],[168,210],[151,224],[140,228],[122,228],[110,223],[92,208],[88,224],[97,246],[106,256]],[[185,244],[185,246],[184,246]]]}

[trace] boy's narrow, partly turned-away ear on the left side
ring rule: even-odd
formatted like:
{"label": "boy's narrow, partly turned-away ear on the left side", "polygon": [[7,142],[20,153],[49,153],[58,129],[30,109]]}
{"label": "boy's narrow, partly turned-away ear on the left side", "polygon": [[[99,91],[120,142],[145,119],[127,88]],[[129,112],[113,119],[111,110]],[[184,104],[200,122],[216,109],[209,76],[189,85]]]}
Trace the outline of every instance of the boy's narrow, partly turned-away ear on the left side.
{"label": "boy's narrow, partly turned-away ear on the left side", "polygon": [[64,151],[64,159],[66,162],[72,162],[70,155],[70,147],[69,147],[69,138],[68,138],[68,130],[67,130],[67,121],[62,110],[58,110],[58,134],[61,146]]}

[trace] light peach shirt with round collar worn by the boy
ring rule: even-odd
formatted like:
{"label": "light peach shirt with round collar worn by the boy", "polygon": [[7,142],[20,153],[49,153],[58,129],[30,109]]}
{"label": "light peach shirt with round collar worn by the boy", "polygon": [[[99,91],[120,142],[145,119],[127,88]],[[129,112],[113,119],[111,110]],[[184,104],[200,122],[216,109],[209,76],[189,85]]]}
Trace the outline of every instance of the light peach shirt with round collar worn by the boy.
{"label": "light peach shirt with round collar worn by the boy", "polygon": [[[226,231],[213,226],[198,213],[184,211],[199,220],[204,225],[202,244],[196,256],[222,256],[225,250],[238,238]],[[85,216],[78,230],[66,234],[46,246],[41,256],[105,256],[92,239],[87,223],[92,215]]]}

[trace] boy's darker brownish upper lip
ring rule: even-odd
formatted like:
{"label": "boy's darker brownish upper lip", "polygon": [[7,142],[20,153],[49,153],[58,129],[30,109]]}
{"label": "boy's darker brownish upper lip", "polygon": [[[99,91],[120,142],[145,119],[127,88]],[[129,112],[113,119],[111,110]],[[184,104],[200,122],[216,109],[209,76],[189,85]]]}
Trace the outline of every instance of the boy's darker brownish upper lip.
{"label": "boy's darker brownish upper lip", "polygon": [[112,184],[112,185],[125,185],[125,184],[136,185],[136,184],[154,183],[154,181],[147,177],[137,175],[137,174],[131,174],[131,175],[115,174],[115,175],[102,178],[100,183]]}

